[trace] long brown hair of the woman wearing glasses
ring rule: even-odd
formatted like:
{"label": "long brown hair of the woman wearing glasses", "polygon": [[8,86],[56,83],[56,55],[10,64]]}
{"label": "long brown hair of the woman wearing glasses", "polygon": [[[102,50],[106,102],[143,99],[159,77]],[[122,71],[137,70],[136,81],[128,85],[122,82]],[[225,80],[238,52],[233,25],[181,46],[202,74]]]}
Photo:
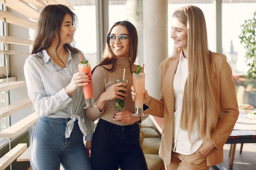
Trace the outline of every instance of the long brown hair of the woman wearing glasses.
{"label": "long brown hair of the woman wearing glasses", "polygon": [[[116,22],[111,29],[108,31],[108,35],[110,35],[112,29],[117,26],[117,25],[123,25],[126,27],[128,31],[128,36],[130,37],[130,72],[132,73],[132,64],[135,63],[135,60],[137,58],[137,51],[138,51],[138,34],[135,26],[130,23],[129,21],[119,21]],[[92,70],[92,73],[94,72],[95,68],[98,66],[103,66],[107,64],[112,64],[112,67],[110,69],[106,68],[109,72],[113,72],[116,69],[116,60],[117,57],[111,50],[110,44],[107,40],[108,36],[106,36],[106,44],[105,44],[105,49],[103,52],[103,59],[100,61],[100,63],[95,66]],[[104,67],[105,68],[105,67]]]}

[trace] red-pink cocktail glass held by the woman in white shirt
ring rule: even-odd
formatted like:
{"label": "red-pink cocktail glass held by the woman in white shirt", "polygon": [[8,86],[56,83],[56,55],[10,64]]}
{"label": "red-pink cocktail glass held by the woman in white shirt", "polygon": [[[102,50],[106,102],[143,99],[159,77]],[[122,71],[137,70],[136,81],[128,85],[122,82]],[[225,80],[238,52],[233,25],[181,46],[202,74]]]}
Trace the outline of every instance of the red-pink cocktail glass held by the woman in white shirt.
{"label": "red-pink cocktail glass held by the woman in white shirt", "polygon": [[[92,76],[92,70],[91,70],[90,64],[79,64],[78,71],[88,73],[88,75]],[[86,103],[85,108],[96,107],[94,105],[94,100],[93,100],[92,82],[90,82],[90,84],[88,84],[87,86],[83,86],[83,95]]]}

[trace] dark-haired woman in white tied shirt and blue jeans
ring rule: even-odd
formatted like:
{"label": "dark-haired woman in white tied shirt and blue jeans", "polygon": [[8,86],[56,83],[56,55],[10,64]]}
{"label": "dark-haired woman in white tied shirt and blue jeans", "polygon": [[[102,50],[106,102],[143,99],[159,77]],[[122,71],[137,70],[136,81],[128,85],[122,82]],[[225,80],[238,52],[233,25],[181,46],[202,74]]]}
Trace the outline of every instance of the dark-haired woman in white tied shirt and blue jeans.
{"label": "dark-haired woman in white tied shirt and blue jeans", "polygon": [[[94,123],[83,110],[81,86],[88,73],[78,72],[81,51],[74,48],[76,15],[66,6],[48,5],[24,66],[28,95],[40,116],[31,135],[30,162],[34,170],[92,170],[88,152]],[[86,147],[83,143],[85,135]]]}

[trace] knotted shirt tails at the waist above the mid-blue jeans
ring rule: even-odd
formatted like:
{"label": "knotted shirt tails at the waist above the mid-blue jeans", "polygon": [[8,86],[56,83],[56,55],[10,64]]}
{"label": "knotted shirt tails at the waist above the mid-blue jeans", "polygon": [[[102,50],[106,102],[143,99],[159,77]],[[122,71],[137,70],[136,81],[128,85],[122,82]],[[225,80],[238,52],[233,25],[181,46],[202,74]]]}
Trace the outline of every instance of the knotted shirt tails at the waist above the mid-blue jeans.
{"label": "knotted shirt tails at the waist above the mid-blue jeans", "polygon": [[74,122],[76,121],[76,119],[78,120],[78,126],[81,130],[81,132],[83,133],[83,135],[87,135],[88,134],[88,130],[83,122],[83,118],[79,115],[73,114],[70,115],[70,121],[67,122],[67,127],[66,127],[66,131],[65,131],[65,137],[68,138],[70,137],[70,134],[73,130],[74,127]]}

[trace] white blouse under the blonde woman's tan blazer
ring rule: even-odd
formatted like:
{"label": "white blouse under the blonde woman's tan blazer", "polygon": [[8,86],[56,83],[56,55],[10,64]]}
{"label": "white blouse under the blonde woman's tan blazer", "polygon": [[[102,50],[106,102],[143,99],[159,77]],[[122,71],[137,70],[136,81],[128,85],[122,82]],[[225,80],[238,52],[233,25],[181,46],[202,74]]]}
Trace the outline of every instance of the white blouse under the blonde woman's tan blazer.
{"label": "white blouse under the blonde woman's tan blazer", "polygon": [[183,51],[180,53],[180,60],[173,79],[174,90],[174,129],[173,129],[173,152],[183,155],[193,154],[200,145],[202,139],[198,124],[195,121],[191,131],[191,141],[189,141],[188,131],[182,130],[180,126],[180,118],[182,112],[182,100],[184,87],[188,77],[188,60],[184,58]]}

